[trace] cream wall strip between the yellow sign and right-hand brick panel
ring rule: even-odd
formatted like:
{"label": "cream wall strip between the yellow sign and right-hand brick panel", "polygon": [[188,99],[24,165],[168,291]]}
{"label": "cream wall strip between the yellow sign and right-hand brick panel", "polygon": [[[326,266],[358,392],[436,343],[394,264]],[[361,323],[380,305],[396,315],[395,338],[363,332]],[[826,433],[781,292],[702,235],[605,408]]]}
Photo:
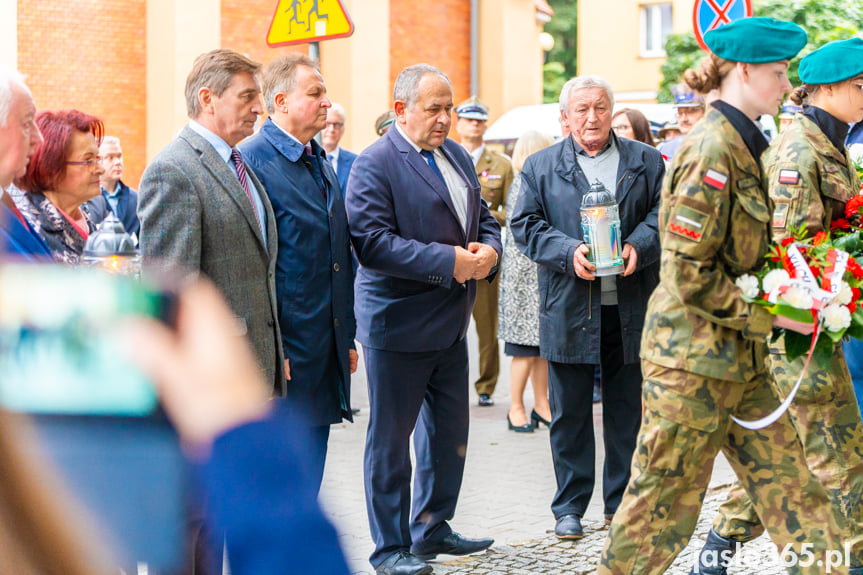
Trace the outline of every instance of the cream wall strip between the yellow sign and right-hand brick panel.
{"label": "cream wall strip between the yellow sign and right-hand brick panel", "polygon": [[354,34],[320,43],[321,72],[330,99],[348,116],[340,145],[359,153],[378,137],[375,119],[392,107],[390,3],[342,0],[342,5],[354,21]]}

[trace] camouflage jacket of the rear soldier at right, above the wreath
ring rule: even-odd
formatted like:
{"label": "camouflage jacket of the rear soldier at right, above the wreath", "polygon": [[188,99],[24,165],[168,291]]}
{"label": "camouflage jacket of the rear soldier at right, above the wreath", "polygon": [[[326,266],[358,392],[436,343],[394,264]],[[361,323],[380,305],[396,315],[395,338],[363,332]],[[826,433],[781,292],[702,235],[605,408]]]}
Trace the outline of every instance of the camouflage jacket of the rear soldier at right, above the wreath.
{"label": "camouflage jacket of the rear soldier at right, above the wreath", "polygon": [[806,224],[807,235],[829,231],[845,217],[845,203],[860,190],[847,150],[840,152],[818,125],[803,114],[773,140],[762,157],[773,200],[773,239]]}

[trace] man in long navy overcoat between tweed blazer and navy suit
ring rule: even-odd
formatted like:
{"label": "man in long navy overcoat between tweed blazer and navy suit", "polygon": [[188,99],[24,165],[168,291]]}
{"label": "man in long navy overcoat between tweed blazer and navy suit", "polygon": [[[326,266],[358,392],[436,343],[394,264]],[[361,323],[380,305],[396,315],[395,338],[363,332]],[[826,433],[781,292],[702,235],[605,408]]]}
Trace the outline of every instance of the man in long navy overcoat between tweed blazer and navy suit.
{"label": "man in long navy overcoat between tweed blazer and navy suit", "polygon": [[316,64],[291,54],[264,70],[270,117],[240,149],[267,191],[279,234],[276,294],[289,374],[285,402],[312,424],[315,482],[330,424],[351,419],[356,370],[353,274],[344,195],[312,140],[330,101]]}

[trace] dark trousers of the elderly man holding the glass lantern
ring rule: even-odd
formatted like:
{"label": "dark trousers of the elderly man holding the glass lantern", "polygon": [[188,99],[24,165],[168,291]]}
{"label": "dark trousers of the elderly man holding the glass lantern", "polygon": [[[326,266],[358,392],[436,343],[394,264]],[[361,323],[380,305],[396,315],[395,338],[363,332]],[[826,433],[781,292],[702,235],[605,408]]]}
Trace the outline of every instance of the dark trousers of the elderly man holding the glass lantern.
{"label": "dark trousers of the elderly man holding the glass lantern", "polygon": [[[602,307],[600,370],[605,465],[605,513],[614,513],[629,481],[632,454],[641,424],[641,366],[624,365],[617,306]],[[557,493],[555,518],[583,516],[593,494],[596,445],[593,434],[595,366],[548,362],[551,403],[551,454]]]}

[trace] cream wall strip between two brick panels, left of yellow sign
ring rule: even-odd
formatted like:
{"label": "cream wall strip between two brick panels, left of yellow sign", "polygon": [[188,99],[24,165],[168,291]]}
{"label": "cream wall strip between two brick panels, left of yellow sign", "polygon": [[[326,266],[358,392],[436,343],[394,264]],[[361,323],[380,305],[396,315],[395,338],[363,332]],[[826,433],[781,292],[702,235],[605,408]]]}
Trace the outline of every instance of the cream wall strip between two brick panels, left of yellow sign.
{"label": "cream wall strip between two brick panels, left of yellow sign", "polygon": [[220,0],[148,0],[148,159],[188,122],[186,76],[199,54],[219,48],[220,25]]}

